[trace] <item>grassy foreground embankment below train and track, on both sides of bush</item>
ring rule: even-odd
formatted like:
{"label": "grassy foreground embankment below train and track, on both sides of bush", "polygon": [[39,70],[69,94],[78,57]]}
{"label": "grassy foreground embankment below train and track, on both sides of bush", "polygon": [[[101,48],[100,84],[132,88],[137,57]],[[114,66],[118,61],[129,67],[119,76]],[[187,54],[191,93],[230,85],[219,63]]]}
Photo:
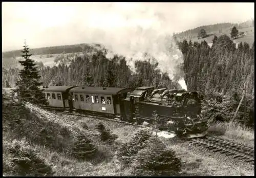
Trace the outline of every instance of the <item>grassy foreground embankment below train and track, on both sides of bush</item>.
{"label": "grassy foreground embankment below train and track, on both sides of bush", "polygon": [[[99,123],[118,136],[114,144],[108,145],[99,139],[97,130]],[[130,141],[134,133],[140,129],[133,125],[90,117],[56,115],[34,105],[15,106],[10,101],[5,101],[3,102],[3,173],[25,175],[24,168],[20,167],[20,164],[17,166],[17,161],[14,161],[18,160],[37,165],[26,175],[131,175],[131,168],[119,162],[116,152],[121,143]],[[78,161],[70,154],[78,133],[86,135],[97,147],[98,153],[93,160]],[[181,175],[248,174],[246,171],[222,164],[218,159],[190,151],[189,147],[177,138],[161,137],[160,140],[181,158]]]}

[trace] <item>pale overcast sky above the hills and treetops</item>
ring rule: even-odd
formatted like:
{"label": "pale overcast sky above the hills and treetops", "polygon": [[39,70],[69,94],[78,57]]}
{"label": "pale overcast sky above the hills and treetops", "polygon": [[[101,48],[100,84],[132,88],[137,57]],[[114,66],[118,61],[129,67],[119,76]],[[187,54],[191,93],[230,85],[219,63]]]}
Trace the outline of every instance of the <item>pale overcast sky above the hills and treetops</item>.
{"label": "pale overcast sky above the hills and treetops", "polygon": [[[253,3],[2,3],[2,50],[129,40],[254,17]],[[152,34],[152,33],[151,33]]]}

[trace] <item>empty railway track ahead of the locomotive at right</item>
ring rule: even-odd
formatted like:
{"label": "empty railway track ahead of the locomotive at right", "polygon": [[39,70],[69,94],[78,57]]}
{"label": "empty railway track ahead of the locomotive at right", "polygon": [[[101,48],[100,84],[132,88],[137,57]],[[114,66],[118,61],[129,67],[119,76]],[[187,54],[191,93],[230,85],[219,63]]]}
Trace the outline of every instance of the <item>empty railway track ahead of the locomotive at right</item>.
{"label": "empty railway track ahead of the locomotive at right", "polygon": [[232,155],[234,159],[244,160],[254,165],[254,149],[252,148],[208,136],[191,139],[189,142],[194,145],[205,146],[214,152],[225,153],[228,156]]}

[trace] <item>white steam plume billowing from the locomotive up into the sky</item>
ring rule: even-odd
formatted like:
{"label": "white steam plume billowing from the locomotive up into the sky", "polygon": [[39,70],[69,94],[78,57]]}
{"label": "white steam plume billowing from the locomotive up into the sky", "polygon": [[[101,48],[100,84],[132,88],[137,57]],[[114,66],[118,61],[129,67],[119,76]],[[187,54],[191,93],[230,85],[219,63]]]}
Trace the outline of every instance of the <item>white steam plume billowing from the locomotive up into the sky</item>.
{"label": "white steam plume billowing from the locomotive up into the sky", "polygon": [[[109,53],[125,57],[131,70],[135,72],[135,60],[154,58],[158,69],[166,72],[170,79],[179,81],[183,78],[183,55],[172,40],[172,25],[177,21],[170,20],[166,12],[169,8],[165,3],[107,3],[91,5],[82,4],[76,13],[78,21],[69,26],[51,27],[44,31],[44,39],[54,38],[68,41],[72,38],[77,42],[101,43]],[[83,15],[79,15],[83,14]],[[175,14],[173,14],[175,17]],[[68,34],[72,32],[72,34]],[[57,33],[56,33],[57,32]],[[144,54],[147,56],[144,56]],[[151,60],[154,62],[153,60]],[[184,89],[185,83],[181,85]]]}

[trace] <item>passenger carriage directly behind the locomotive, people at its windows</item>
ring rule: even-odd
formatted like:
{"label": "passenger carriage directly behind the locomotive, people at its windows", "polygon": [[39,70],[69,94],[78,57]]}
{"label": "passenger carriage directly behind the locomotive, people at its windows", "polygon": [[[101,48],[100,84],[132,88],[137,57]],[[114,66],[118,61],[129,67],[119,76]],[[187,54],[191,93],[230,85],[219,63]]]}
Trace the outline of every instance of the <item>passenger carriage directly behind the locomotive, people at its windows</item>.
{"label": "passenger carriage directly behind the locomotive, people at its windows", "polygon": [[73,98],[74,109],[120,117],[124,111],[123,100],[129,91],[121,87],[77,86],[69,94]]}

